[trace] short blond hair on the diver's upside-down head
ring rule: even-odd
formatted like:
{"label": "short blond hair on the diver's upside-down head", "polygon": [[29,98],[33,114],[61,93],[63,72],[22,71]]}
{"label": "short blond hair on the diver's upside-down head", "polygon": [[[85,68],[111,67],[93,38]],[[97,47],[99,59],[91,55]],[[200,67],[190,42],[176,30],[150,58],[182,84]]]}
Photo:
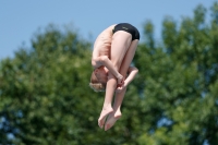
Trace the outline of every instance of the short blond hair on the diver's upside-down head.
{"label": "short blond hair on the diver's upside-down head", "polygon": [[96,77],[94,71],[90,76],[90,88],[93,88],[95,92],[105,92],[106,90],[106,84],[98,82],[98,78]]}

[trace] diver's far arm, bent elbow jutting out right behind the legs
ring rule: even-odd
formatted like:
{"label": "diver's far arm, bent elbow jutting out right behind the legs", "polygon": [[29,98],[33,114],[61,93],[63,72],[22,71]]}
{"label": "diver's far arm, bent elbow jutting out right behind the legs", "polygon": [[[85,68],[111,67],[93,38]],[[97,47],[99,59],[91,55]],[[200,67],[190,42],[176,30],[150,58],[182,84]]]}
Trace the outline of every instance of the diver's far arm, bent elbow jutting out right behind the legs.
{"label": "diver's far arm, bent elbow jutting out right behind the legs", "polygon": [[128,85],[133,81],[133,78],[135,77],[135,75],[137,74],[138,70],[135,67],[130,67],[128,70],[128,77],[125,78],[123,85],[120,85],[116,92],[117,93],[121,93],[125,87],[128,87]]}

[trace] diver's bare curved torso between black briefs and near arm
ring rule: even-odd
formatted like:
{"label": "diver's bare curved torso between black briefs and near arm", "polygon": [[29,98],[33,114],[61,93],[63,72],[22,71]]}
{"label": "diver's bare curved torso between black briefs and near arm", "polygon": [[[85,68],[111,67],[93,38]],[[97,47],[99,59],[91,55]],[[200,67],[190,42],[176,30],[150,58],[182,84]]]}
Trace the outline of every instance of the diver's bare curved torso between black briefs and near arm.
{"label": "diver's bare curved torso between black briefs and near arm", "polygon": [[107,56],[110,59],[110,48],[112,41],[112,29],[116,25],[111,25],[100,33],[94,44],[93,58]]}

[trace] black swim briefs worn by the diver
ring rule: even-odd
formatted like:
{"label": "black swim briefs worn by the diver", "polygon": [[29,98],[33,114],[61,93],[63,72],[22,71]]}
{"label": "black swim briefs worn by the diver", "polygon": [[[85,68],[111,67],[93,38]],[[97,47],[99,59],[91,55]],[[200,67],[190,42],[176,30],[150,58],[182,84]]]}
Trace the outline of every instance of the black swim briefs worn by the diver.
{"label": "black swim briefs worn by the diver", "polygon": [[140,40],[140,33],[138,33],[137,28],[129,23],[120,23],[120,24],[116,25],[114,28],[112,29],[112,32],[114,34],[118,31],[124,31],[126,33],[130,33],[132,35],[132,40],[134,40],[134,39]]}

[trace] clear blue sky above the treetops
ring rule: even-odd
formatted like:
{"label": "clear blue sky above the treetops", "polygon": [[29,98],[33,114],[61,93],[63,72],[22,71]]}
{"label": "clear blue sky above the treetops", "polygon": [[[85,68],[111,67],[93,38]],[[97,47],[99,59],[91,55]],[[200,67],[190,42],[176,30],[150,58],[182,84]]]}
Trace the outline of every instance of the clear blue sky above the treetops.
{"label": "clear blue sky above the treetops", "polygon": [[[150,20],[155,37],[160,38],[161,22],[170,15],[175,21],[193,16],[202,3],[209,9],[215,0],[0,0],[0,59],[13,57],[14,51],[31,39],[38,28],[48,24],[60,27],[73,25],[81,37],[95,40],[107,26],[128,22],[140,32]],[[209,15],[209,14],[208,14]]]}

